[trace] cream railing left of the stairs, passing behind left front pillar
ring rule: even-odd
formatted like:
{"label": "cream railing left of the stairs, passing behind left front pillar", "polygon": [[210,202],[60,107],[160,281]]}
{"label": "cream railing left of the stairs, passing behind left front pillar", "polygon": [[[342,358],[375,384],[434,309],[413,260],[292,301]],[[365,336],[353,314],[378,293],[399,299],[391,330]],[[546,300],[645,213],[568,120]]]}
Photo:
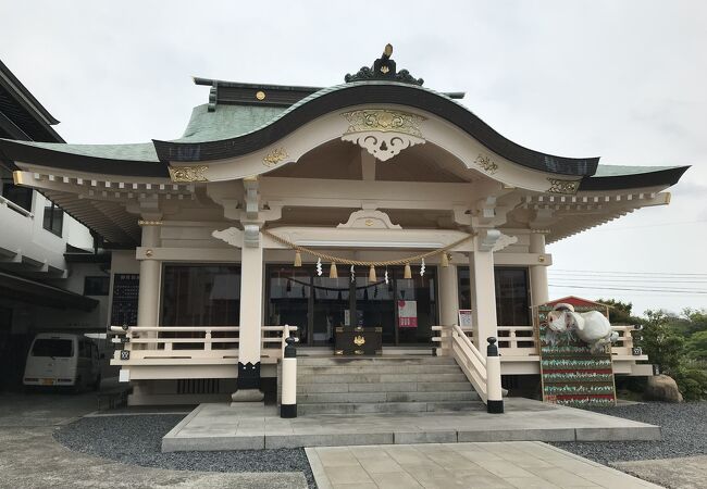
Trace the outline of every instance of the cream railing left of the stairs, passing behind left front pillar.
{"label": "cream railing left of the stairs, passing behind left front pillar", "polygon": [[[115,343],[124,343],[131,360],[238,358],[239,326],[111,326]],[[262,326],[261,355],[268,362],[282,358],[284,337],[297,326]],[[121,352],[116,351],[116,360]]]}

